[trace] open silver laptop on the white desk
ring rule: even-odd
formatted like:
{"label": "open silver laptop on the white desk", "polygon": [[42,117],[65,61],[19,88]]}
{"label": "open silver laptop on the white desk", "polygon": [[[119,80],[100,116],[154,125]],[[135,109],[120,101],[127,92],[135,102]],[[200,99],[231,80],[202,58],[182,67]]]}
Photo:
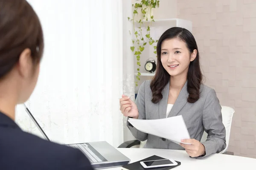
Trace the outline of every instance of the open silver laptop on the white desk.
{"label": "open silver laptop on the white desk", "polygon": [[[38,127],[39,131],[42,133],[44,138],[50,141],[46,133],[44,133],[44,130],[38,124],[35,117],[32,115],[32,113],[29,111],[25,104],[24,107],[29,117]],[[84,153],[84,155],[89,159],[94,169],[120,167],[130,162],[130,159],[128,159],[125,155],[116,150],[116,148],[114,148],[111,144],[109,144],[106,141],[64,145],[81,150],[81,152]]]}

